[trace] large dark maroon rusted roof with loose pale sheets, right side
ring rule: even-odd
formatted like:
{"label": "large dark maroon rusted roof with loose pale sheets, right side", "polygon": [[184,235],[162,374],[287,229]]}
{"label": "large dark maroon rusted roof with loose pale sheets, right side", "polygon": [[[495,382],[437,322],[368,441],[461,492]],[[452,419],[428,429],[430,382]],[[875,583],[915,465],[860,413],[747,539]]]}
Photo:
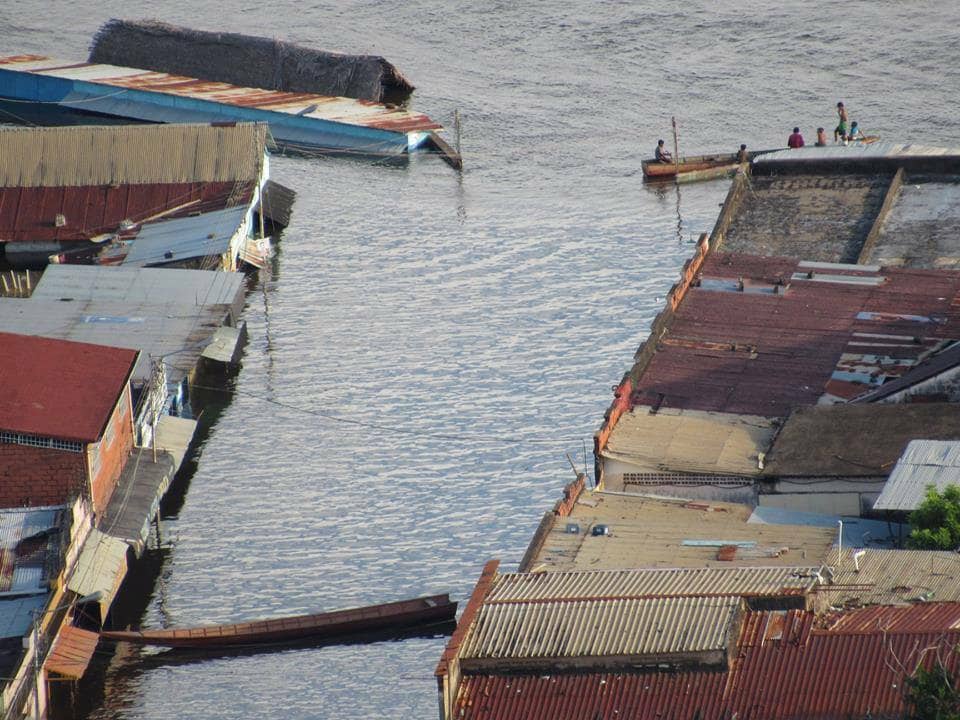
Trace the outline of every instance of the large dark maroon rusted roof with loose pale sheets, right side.
{"label": "large dark maroon rusted roof with loose pale sheets, right side", "polygon": [[[677,308],[632,404],[783,416],[829,390],[843,396],[868,390],[849,387],[843,374],[858,356],[908,363],[939,341],[960,338],[956,271],[819,271],[868,281],[862,284],[792,279],[797,272],[805,272],[800,261],[788,258],[710,255],[701,285]],[[736,290],[741,279],[745,292]],[[785,293],[774,293],[778,283],[789,284]],[[890,363],[884,372],[895,376],[898,367],[909,365]]]}

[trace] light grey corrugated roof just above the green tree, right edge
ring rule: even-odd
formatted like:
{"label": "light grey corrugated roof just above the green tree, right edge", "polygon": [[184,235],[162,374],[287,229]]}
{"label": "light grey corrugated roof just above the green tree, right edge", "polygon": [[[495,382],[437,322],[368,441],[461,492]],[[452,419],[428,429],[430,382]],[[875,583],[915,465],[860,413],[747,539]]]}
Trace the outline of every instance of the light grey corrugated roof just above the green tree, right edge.
{"label": "light grey corrugated roof just above the green tree, right edge", "polygon": [[897,460],[873,509],[916,510],[929,485],[940,492],[948,485],[960,485],[960,442],[911,441]]}

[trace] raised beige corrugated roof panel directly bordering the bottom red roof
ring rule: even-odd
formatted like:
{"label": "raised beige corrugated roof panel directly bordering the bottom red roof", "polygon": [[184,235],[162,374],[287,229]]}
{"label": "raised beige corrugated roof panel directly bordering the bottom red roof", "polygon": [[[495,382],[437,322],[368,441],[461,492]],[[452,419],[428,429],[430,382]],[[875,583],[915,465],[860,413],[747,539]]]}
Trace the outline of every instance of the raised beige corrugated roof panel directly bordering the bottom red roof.
{"label": "raised beige corrugated roof panel directly bordering the bottom red roof", "polygon": [[551,659],[723,651],[738,597],[486,603],[465,659]]}

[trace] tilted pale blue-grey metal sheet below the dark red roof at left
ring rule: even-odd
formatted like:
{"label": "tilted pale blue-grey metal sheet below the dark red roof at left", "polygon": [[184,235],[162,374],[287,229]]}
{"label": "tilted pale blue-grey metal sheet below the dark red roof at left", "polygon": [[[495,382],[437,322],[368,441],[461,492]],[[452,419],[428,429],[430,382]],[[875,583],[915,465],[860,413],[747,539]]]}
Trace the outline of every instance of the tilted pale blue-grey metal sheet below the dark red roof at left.
{"label": "tilted pale blue-grey metal sheet below the dark red roof at left", "polygon": [[130,250],[121,264],[143,267],[222,255],[237,233],[246,232],[247,212],[246,206],[240,206],[145,224],[130,242]]}

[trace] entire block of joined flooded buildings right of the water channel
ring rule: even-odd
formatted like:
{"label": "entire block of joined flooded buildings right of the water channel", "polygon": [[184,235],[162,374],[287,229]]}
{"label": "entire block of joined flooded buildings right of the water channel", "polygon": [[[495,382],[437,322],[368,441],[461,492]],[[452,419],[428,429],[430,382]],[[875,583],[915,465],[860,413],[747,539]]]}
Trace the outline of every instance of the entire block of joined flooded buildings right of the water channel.
{"label": "entire block of joined flooded buildings right of the water channel", "polygon": [[444,720],[905,717],[960,677],[960,152],[772,153],[732,183],[580,475],[484,568]]}

